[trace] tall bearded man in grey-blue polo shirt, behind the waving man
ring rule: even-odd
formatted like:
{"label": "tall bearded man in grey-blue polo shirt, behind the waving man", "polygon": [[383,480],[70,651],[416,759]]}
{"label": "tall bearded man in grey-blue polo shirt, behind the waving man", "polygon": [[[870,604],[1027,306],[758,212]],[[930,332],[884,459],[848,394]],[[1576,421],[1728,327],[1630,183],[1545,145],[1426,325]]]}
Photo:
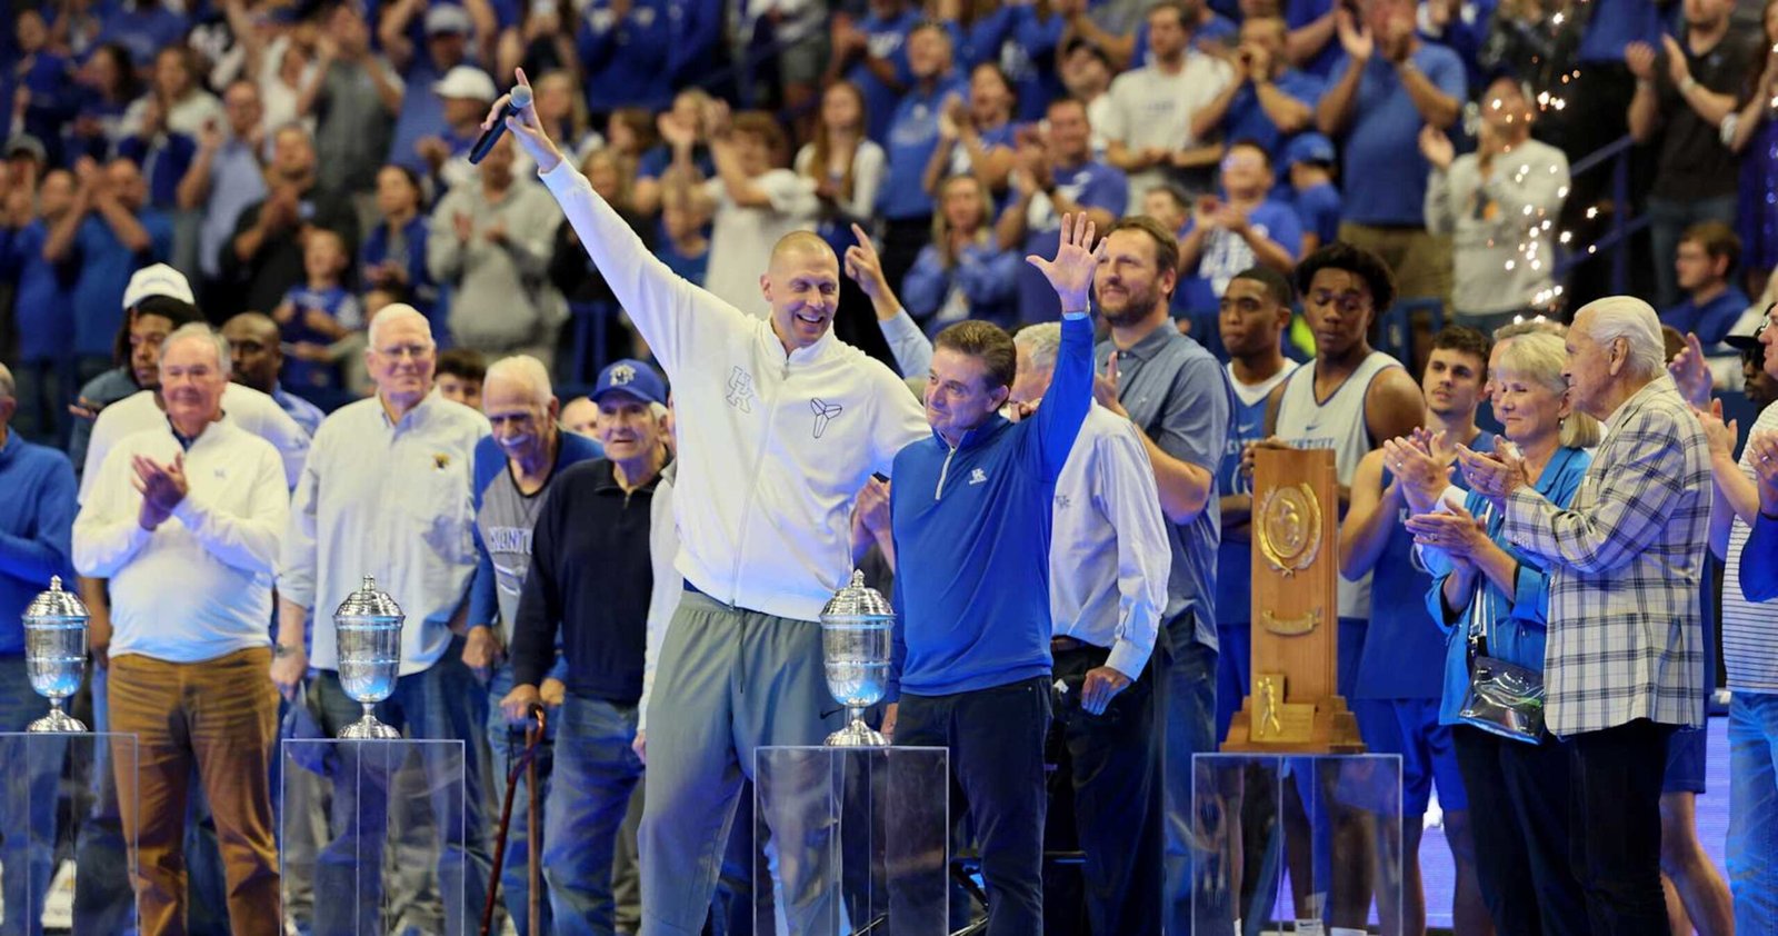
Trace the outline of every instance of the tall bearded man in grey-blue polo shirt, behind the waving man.
{"label": "tall bearded man in grey-blue polo shirt, behind the waving man", "polygon": [[1179,242],[1152,217],[1127,217],[1106,235],[1093,278],[1111,336],[1095,352],[1093,399],[1136,424],[1166,516],[1172,575],[1156,644],[1156,694],[1165,703],[1168,932],[1191,932],[1191,754],[1216,749],[1216,464],[1232,400],[1221,367],[1173,327]]}

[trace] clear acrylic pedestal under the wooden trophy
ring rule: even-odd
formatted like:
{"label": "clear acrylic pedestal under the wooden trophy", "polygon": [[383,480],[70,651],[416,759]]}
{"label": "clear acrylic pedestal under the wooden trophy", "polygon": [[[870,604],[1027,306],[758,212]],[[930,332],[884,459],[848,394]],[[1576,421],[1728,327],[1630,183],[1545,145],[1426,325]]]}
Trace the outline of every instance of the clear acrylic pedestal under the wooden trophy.
{"label": "clear acrylic pedestal under the wooden trophy", "polygon": [[1195,754],[1193,932],[1401,932],[1398,754]]}

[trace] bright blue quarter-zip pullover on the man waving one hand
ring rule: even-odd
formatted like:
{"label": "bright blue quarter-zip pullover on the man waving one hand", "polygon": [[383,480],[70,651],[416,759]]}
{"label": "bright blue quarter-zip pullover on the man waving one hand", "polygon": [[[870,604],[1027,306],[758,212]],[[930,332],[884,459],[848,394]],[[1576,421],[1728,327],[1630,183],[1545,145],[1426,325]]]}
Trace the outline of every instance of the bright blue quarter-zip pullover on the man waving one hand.
{"label": "bright blue quarter-zip pullover on the man waving one hand", "polygon": [[1093,402],[1093,326],[1061,322],[1037,415],[999,415],[951,448],[937,432],[894,459],[898,561],[889,698],[949,696],[1049,674],[1056,479]]}

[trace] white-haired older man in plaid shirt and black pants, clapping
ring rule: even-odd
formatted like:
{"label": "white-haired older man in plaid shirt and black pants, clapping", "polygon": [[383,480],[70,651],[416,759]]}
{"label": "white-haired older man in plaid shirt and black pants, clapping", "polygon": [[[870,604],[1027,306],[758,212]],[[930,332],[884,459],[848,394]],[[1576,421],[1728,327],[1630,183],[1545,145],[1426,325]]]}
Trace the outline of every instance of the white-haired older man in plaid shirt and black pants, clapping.
{"label": "white-haired older man in plaid shirt and black pants, clapping", "polygon": [[1574,872],[1593,932],[1666,936],[1661,778],[1673,730],[1703,724],[1710,454],[1646,303],[1584,306],[1563,375],[1570,406],[1606,424],[1566,511],[1526,482],[1513,452],[1463,450],[1463,473],[1550,571],[1545,717],[1572,758]]}

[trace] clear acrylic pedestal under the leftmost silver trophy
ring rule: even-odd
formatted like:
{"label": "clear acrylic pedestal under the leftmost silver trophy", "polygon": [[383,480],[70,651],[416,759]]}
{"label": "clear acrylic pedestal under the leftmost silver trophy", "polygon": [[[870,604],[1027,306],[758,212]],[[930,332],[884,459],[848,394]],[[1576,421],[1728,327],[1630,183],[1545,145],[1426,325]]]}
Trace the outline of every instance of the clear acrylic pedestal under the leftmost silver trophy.
{"label": "clear acrylic pedestal under the leftmost silver trophy", "polygon": [[0,763],[0,934],[135,931],[135,735],[7,731]]}

